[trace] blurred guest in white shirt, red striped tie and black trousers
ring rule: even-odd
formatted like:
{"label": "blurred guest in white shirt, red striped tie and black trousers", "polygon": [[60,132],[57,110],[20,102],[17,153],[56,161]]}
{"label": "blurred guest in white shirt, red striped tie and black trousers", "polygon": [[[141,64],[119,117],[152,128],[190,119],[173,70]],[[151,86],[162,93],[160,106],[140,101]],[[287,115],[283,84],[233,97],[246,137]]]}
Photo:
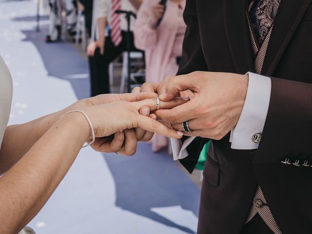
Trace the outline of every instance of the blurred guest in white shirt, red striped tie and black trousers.
{"label": "blurred guest in white shirt, red striped tie and black trousers", "polygon": [[[95,0],[94,20],[91,43],[88,45],[89,68],[91,78],[91,96],[109,94],[109,63],[127,48],[127,20],[124,14],[116,14],[116,10],[137,13],[142,0]],[[130,49],[136,51],[133,39],[135,19],[130,21]],[[106,27],[110,30],[105,35]]]}

